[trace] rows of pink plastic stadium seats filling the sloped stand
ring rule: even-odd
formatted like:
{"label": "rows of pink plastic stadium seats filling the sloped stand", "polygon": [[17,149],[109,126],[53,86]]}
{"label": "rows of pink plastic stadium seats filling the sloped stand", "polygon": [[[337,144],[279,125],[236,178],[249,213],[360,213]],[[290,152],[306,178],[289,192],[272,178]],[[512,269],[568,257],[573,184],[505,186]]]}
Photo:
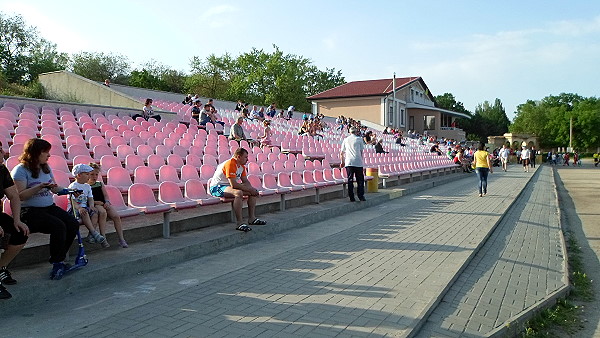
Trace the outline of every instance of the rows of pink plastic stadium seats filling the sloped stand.
{"label": "rows of pink plastic stadium seats filling the sloped stand", "polygon": [[[157,122],[133,120],[129,114],[114,110],[85,109],[83,105],[73,109],[60,104],[49,106],[24,101],[0,100],[0,140],[9,155],[5,161],[8,169],[18,163],[24,143],[32,137],[52,144],[49,163],[60,185],[66,186],[73,180],[70,168],[74,164],[100,164],[101,177],[113,205],[121,217],[128,217],[124,223],[133,224],[131,228],[126,225],[126,237],[137,234],[137,238],[128,239],[130,242],[158,235],[155,231],[141,235],[141,230],[136,230],[139,228],[158,226],[160,229],[162,225],[160,232],[163,237],[169,237],[171,232],[232,219],[227,204],[230,201],[209,196],[206,185],[216,166],[231,158],[238,148],[236,141],[228,140],[223,134],[228,133],[234,123],[236,112],[220,109],[220,119],[225,126],[208,124],[202,129],[191,120],[189,106],[176,102],[157,102],[163,110],[168,108],[176,113]],[[247,142],[241,142],[250,153],[249,179],[264,196],[259,210],[285,210],[302,203],[345,196],[345,171],[337,167],[341,143],[347,133],[330,123],[322,138],[299,136],[297,130],[301,122],[299,116],[291,120],[273,119],[272,147],[250,147]],[[257,139],[263,131],[259,121],[245,121],[243,128],[252,139]],[[456,171],[456,165],[445,156],[429,153],[428,145],[405,139],[406,146],[400,147],[391,135],[381,136],[388,153],[376,154],[374,148],[368,146],[364,160],[366,168],[379,170],[383,186]],[[4,210],[8,210],[7,204],[4,203]],[[181,214],[185,213],[190,219],[204,215],[202,225],[173,223],[171,212],[181,209],[189,209]],[[154,213],[162,214],[162,219],[150,215]],[[109,240],[114,241],[112,235]],[[44,247],[44,243],[47,239],[33,240],[27,248]],[[15,264],[43,261],[43,251],[35,252],[39,253],[37,257],[18,257]]]}

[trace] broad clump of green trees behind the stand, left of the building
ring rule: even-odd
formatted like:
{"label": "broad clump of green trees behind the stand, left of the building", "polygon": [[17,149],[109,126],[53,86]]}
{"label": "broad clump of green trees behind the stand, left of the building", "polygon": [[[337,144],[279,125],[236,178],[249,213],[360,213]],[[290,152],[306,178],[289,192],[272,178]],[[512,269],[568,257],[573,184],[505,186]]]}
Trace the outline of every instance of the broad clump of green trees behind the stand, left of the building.
{"label": "broad clump of green trees behind the stand, left of the building", "polygon": [[211,55],[205,61],[194,58],[193,74],[186,85],[204,96],[260,105],[275,102],[280,107],[294,105],[299,111],[310,111],[307,96],[345,82],[340,71],[321,71],[307,58],[273,48],[272,53],[253,48],[237,58],[228,54]]}

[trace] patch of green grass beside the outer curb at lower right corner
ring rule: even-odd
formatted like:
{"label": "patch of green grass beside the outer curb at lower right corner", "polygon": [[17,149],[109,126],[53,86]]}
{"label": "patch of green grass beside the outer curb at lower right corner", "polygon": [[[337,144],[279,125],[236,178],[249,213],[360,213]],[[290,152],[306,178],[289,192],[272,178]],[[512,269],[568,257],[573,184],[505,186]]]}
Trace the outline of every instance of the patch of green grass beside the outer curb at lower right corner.
{"label": "patch of green grass beside the outer curb at lower right corner", "polygon": [[583,328],[584,307],[574,302],[592,301],[595,297],[592,281],[584,272],[581,247],[575,235],[567,233],[569,256],[569,281],[571,293],[560,299],[551,308],[545,309],[525,323],[521,337],[557,337],[565,333],[572,335]]}

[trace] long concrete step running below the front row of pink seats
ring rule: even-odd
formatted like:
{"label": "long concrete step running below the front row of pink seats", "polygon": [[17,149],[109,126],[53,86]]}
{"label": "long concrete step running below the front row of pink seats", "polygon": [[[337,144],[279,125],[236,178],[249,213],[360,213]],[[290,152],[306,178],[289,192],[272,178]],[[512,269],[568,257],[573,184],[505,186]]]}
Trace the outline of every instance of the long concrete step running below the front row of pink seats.
{"label": "long concrete step running below the front row of pink seats", "polygon": [[[466,177],[446,175],[407,184],[401,188],[389,189],[379,192],[377,195],[368,196],[369,199],[366,202],[353,203],[352,210],[376,206]],[[305,227],[341,216],[348,212],[348,203],[346,199],[337,199],[285,212],[275,212],[270,214],[268,226],[254,227],[253,231],[249,233],[234,231],[231,224],[226,224],[201,228],[198,231],[177,233],[169,239],[152,239],[130,247],[126,253],[123,250],[105,251],[94,255],[88,266],[74,272],[77,275],[76,278],[68,275],[60,281],[51,281],[47,278],[49,265],[47,263],[36,264],[19,271],[19,284],[10,288],[14,295],[10,302],[11,306],[0,309],[0,314],[35,303],[49,302],[56,296],[67,296],[76,293],[78,289],[101,284],[104,281],[132,274],[148,273],[182,261],[265,239],[289,229]]]}

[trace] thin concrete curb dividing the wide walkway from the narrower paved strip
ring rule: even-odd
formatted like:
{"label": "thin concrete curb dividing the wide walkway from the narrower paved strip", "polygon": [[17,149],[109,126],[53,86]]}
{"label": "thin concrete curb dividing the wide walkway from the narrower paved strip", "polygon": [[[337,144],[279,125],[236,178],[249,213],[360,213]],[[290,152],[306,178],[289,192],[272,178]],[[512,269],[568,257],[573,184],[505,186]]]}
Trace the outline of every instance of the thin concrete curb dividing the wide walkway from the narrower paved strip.
{"label": "thin concrete curb dividing the wide walkway from the narrower paved strip", "polygon": [[[539,174],[538,174],[538,169],[536,168],[535,173],[533,175],[531,175],[531,177],[529,177],[529,180],[527,181],[527,183],[525,183],[525,185],[523,186],[523,189],[521,189],[521,191],[519,191],[519,193],[517,194],[517,196],[515,197],[515,199],[509,204],[507,210],[513,207],[513,205],[515,204],[516,200],[518,200],[519,197],[521,197],[521,194],[523,194],[523,191],[525,190],[525,188],[531,183],[531,180],[534,177],[536,177],[537,175],[539,175]],[[433,299],[431,302],[429,302],[429,304],[426,306],[425,310],[415,318],[415,319],[418,319],[418,322],[412,328],[412,330],[406,335],[406,337],[414,337],[415,335],[417,335],[419,333],[419,331],[421,330],[421,328],[423,327],[423,325],[425,325],[425,323],[427,322],[427,319],[429,318],[429,316],[431,315],[431,313],[435,310],[435,308],[442,301],[442,299],[444,299],[444,296],[448,293],[448,291],[450,290],[450,288],[452,287],[452,285],[460,277],[460,275],[467,268],[467,266],[473,260],[473,258],[475,258],[475,256],[479,252],[479,250],[481,250],[481,248],[485,245],[485,243],[487,242],[487,240],[494,233],[494,231],[496,230],[496,228],[498,227],[498,225],[500,224],[500,222],[502,222],[502,220],[504,219],[505,216],[506,216],[506,212],[504,212],[502,214],[502,216],[500,216],[500,218],[498,218],[498,220],[496,221],[496,223],[490,228],[490,230],[487,232],[487,234],[485,234],[485,236],[483,237],[483,239],[479,242],[479,244],[477,245],[477,247],[471,252],[471,254],[465,260],[465,262],[463,263],[463,265],[456,271],[456,273],[454,274],[454,276],[452,277],[452,279],[450,280],[450,282],[448,284],[446,284],[446,287],[444,287],[444,289],[438,294],[438,296],[435,299]]]}

